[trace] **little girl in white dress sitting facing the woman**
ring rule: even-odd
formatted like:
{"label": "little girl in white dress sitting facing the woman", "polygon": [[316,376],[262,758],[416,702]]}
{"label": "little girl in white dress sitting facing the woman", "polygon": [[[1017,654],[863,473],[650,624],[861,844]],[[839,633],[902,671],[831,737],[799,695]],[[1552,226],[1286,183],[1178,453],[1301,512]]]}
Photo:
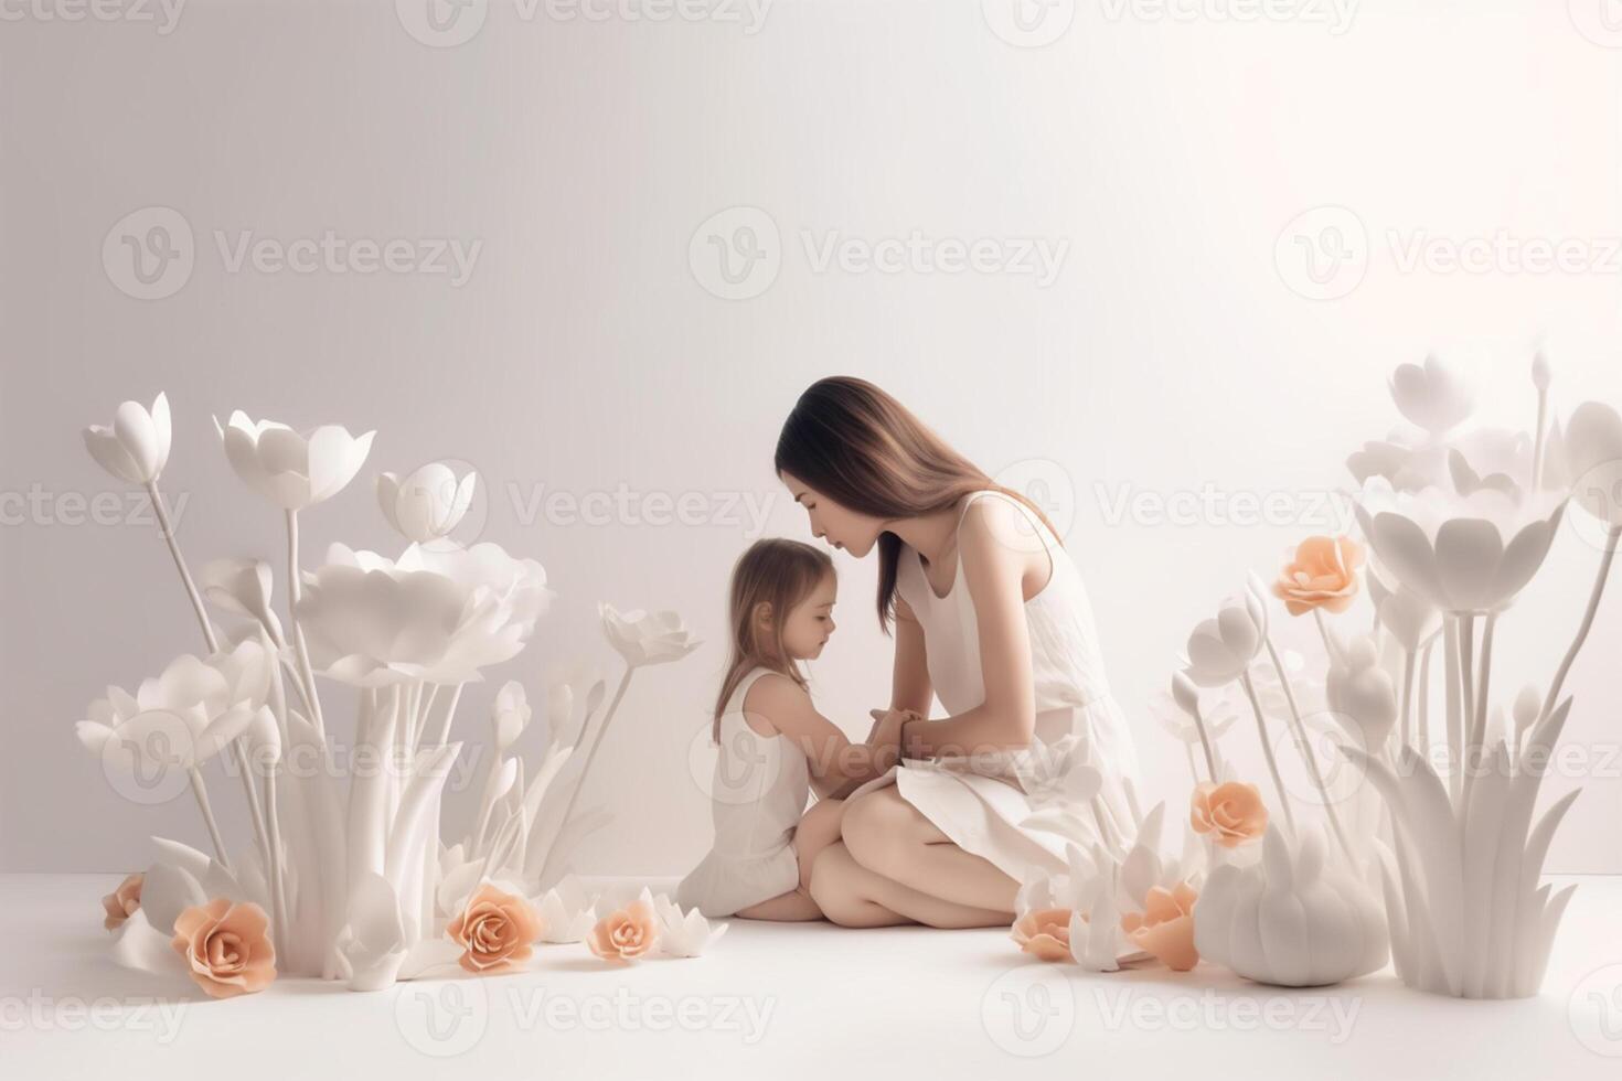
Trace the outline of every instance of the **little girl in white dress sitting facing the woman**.
{"label": "little girl in white dress sitting facing the woman", "polygon": [[[827,553],[761,540],[732,572],[732,663],[715,700],[720,754],[710,789],[715,843],[681,880],[676,901],[704,916],[809,921],[811,862],[839,840],[843,794],[895,758],[908,715],[874,710],[865,744],[811,705],[800,661],[834,634],[837,593]],[[816,789],[817,804],[806,810]]]}

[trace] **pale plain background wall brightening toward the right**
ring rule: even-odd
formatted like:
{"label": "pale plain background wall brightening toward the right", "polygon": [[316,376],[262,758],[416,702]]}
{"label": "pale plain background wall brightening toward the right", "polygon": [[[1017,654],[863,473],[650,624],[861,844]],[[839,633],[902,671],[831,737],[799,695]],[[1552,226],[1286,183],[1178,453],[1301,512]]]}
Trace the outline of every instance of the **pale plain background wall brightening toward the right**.
{"label": "pale plain background wall brightening toward the right", "polygon": [[[198,645],[148,522],[75,523],[75,499],[120,491],[79,428],[127,397],[169,391],[164,480],[185,498],[196,564],[281,551],[211,413],[380,431],[362,481],[307,515],[311,553],[337,538],[394,548],[376,470],[477,467],[482,536],[545,562],[558,600],[529,652],[469,692],[474,739],[503,679],[539,695],[548,661],[608,663],[599,600],[683,611],[709,643],[637,679],[586,801],[618,807],[620,822],[581,867],[618,874],[678,874],[707,843],[686,749],[722,664],[727,570],[748,540],[720,514],[723,493],[774,499],[767,530],[808,536],[770,452],[814,378],[878,381],[991,472],[1062,468],[1054,509],[1071,515],[1118,697],[1152,788],[1178,805],[1181,752],[1145,699],[1246,567],[1270,574],[1286,545],[1333,530],[1319,498],[1348,481],[1346,452],[1395,420],[1392,366],[1437,348],[1494,387],[1491,420],[1528,426],[1526,368],[1544,345],[1562,408],[1622,402],[1606,248],[1622,233],[1622,34],[1606,36],[1598,3],[1364,0],[1337,28],[1314,21],[1328,11],[1317,3],[1239,21],[1216,0],[1176,16],[1058,0],[1059,23],[1035,32],[1074,19],[1041,49],[989,29],[1009,26],[1001,0],[989,21],[978,3],[777,0],[754,34],[620,8],[524,18],[491,0],[464,15],[485,23],[457,47],[404,29],[415,0],[404,16],[389,3],[191,0],[167,34],[128,18],[44,19],[63,8],[41,3],[8,5],[8,19],[23,15],[0,32],[5,870],[115,870],[143,862],[149,833],[203,840],[185,801],[118,801],[73,739],[105,684],[130,687]],[[102,243],[154,206],[183,216],[195,266],[174,295],[136,300],[104,269]],[[775,224],[779,271],[728,301],[702,287],[712,266],[694,272],[689,240],[735,206]],[[1332,288],[1366,274],[1309,300],[1293,288],[1307,279],[1286,227],[1322,206],[1345,211],[1309,217],[1302,235],[1332,243],[1314,230],[1350,227],[1359,256]],[[243,230],[282,245],[333,230],[482,248],[462,285],[232,271],[216,233],[230,246]],[[1046,287],[819,271],[803,235],[821,246],[829,230],[858,243],[1036,237],[1067,254]],[[1444,245],[1500,230],[1577,238],[1598,266],[1405,269],[1419,230]],[[526,512],[535,494],[621,485],[636,498],[706,493],[720,520]],[[1122,493],[1207,489],[1218,502],[1194,522],[1111,511]],[[1234,523],[1246,493],[1277,494],[1285,520]],[[873,564],[835,559],[843,626],[814,679],[856,733],[887,697],[889,660],[869,614]],[[1502,686],[1547,677],[1596,561],[1560,536],[1504,624]],[[1619,645],[1622,601],[1601,613],[1568,684],[1568,736],[1591,783],[1555,870],[1622,870]],[[341,700],[329,692],[328,710]],[[1229,744],[1249,737],[1241,728]],[[217,802],[240,831],[238,801]],[[469,802],[453,797],[448,822]]]}

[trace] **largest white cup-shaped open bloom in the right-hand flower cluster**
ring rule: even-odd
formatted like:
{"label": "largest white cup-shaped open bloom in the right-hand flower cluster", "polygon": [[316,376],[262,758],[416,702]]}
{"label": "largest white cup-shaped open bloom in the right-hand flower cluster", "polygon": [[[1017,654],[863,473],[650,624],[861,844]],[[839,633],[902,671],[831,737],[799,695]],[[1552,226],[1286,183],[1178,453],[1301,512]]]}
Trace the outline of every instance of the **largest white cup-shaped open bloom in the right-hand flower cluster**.
{"label": "largest white cup-shaped open bloom in the right-hand flower cluster", "polygon": [[1380,478],[1356,504],[1380,564],[1442,611],[1507,606],[1549,554],[1565,501],[1515,501],[1481,488],[1468,498],[1439,489],[1395,493]]}

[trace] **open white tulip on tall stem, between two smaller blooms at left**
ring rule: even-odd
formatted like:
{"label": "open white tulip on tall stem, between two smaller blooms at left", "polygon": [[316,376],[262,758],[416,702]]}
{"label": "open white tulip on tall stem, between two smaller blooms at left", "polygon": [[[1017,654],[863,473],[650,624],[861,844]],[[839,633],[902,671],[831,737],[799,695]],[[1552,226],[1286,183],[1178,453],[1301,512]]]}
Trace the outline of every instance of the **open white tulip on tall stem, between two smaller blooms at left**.
{"label": "open white tulip on tall stem, between two smaller blooms at left", "polygon": [[216,417],[214,428],[237,476],[284,511],[303,511],[341,493],[378,434],[350,436],[339,425],[298,433],[271,420],[248,420],[242,410],[225,425]]}

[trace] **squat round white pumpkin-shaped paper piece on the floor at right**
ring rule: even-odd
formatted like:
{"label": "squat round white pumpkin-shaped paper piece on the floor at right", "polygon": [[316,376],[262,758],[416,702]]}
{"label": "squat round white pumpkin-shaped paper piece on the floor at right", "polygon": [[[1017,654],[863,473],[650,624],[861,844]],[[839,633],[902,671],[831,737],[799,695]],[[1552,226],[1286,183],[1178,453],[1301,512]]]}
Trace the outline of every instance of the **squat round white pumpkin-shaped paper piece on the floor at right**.
{"label": "squat round white pumpkin-shaped paper piece on the floor at right", "polygon": [[1379,901],[1327,854],[1315,830],[1293,851],[1268,827],[1260,862],[1213,869],[1194,904],[1200,956],[1280,987],[1322,987],[1380,969],[1388,938]]}

